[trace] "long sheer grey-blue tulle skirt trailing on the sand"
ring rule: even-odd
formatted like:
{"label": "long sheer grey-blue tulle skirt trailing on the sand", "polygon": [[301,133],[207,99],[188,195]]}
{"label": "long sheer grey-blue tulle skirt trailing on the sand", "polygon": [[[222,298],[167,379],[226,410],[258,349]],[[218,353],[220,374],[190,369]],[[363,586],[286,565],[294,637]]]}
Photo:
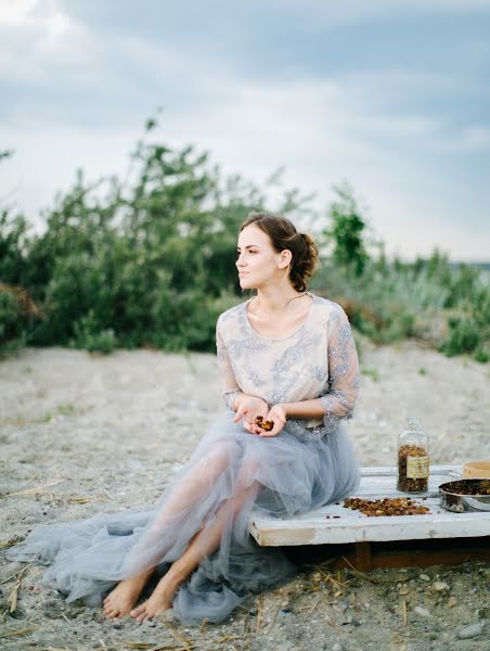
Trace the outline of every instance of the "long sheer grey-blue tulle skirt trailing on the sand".
{"label": "long sheer grey-blue tulle skirt trailing on the sand", "polygon": [[8,558],[50,565],[44,585],[67,601],[99,605],[120,579],[150,567],[165,573],[195,534],[205,540],[219,527],[219,546],[172,601],[182,623],[219,623],[248,591],[278,585],[296,571],[281,548],[262,548],[252,538],[252,512],[298,515],[346,497],[359,481],[344,422],[317,441],[301,439],[298,426],[288,423],[279,436],[259,437],[227,412],[153,508],[37,526]]}

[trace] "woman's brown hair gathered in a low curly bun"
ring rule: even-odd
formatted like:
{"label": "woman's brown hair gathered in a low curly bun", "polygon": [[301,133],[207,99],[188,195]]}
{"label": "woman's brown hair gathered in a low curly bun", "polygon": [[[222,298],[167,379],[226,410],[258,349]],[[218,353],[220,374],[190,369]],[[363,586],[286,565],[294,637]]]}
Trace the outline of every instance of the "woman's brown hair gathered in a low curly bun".
{"label": "woman's brown hair gathered in a low curly bun", "polygon": [[273,248],[281,253],[287,248],[293,254],[289,280],[297,292],[305,292],[307,282],[318,264],[318,246],[306,233],[298,233],[286,217],[272,213],[249,213],[240,231],[254,224],[270,238]]}

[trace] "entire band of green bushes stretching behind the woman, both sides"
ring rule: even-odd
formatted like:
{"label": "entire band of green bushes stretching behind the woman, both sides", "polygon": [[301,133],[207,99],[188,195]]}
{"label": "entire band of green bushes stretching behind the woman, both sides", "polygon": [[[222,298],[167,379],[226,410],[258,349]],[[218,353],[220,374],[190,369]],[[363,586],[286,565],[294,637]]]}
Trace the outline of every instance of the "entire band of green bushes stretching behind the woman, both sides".
{"label": "entire band of green bushes stretching behind the woman, both sides", "polygon": [[[147,129],[154,126],[149,120]],[[359,332],[377,343],[421,337],[448,355],[487,361],[490,288],[478,271],[454,268],[437,250],[412,264],[388,260],[379,243],[381,255],[368,254],[366,221],[350,187],[335,191],[326,225],[296,189],[271,206],[298,226],[299,210],[313,218],[322,265],[312,290],[344,305]],[[78,173],[46,213],[43,232],[31,233],[22,215],[3,209],[0,350],[214,352],[218,315],[242,299],[234,266],[238,228],[266,204],[265,190],[240,176],[222,178],[207,154],[143,139],[124,182],[88,183]]]}

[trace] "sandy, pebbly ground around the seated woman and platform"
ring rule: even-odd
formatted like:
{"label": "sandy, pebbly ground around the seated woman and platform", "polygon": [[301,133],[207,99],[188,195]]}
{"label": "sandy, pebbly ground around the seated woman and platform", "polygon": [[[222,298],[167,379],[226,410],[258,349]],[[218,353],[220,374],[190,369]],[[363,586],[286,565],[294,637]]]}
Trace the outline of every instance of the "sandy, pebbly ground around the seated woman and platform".
{"label": "sandy, pebbly ground around the seated woman and platform", "polygon": [[[395,463],[408,414],[429,433],[434,463],[490,459],[490,365],[413,342],[361,344],[362,392],[349,430],[362,465]],[[482,562],[340,577],[323,564],[250,595],[223,625],[184,627],[171,615],[114,624],[39,586],[41,567],[5,560],[9,541],[35,524],[154,502],[223,409],[212,355],[26,348],[0,362],[2,649],[490,648],[490,566]]]}

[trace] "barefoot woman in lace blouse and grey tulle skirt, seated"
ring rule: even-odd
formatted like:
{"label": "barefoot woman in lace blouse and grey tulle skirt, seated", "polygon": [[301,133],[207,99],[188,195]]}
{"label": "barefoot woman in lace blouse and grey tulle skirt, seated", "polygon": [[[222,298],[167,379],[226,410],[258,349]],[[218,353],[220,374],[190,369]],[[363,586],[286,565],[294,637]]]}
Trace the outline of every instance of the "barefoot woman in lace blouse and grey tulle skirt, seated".
{"label": "barefoot woman in lace blouse and grey tulle skirt, seated", "polygon": [[252,213],[236,267],[242,289],[257,295],[221,314],[216,329],[229,411],[155,509],[38,526],[10,558],[52,563],[44,580],[67,601],[103,600],[107,617],[139,622],[169,608],[188,624],[222,622],[247,590],[294,574],[281,549],[250,537],[252,511],[291,518],[359,484],[345,424],[358,395],[356,345],[341,307],[306,291],[317,258],[288,219]]}

